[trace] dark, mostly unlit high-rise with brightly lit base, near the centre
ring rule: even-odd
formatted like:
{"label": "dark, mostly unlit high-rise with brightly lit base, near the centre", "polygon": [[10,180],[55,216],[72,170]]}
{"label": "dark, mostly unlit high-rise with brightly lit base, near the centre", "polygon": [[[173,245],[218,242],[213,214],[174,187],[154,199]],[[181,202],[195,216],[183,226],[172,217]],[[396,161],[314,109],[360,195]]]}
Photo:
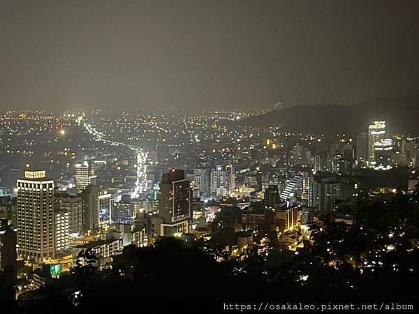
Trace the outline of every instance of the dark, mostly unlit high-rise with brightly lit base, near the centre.
{"label": "dark, mostly unlit high-rise with brightly lit base, near the centre", "polygon": [[184,170],[172,169],[161,177],[158,217],[162,221],[159,228],[155,227],[156,235],[172,236],[177,232],[189,232],[191,185],[185,179]]}

